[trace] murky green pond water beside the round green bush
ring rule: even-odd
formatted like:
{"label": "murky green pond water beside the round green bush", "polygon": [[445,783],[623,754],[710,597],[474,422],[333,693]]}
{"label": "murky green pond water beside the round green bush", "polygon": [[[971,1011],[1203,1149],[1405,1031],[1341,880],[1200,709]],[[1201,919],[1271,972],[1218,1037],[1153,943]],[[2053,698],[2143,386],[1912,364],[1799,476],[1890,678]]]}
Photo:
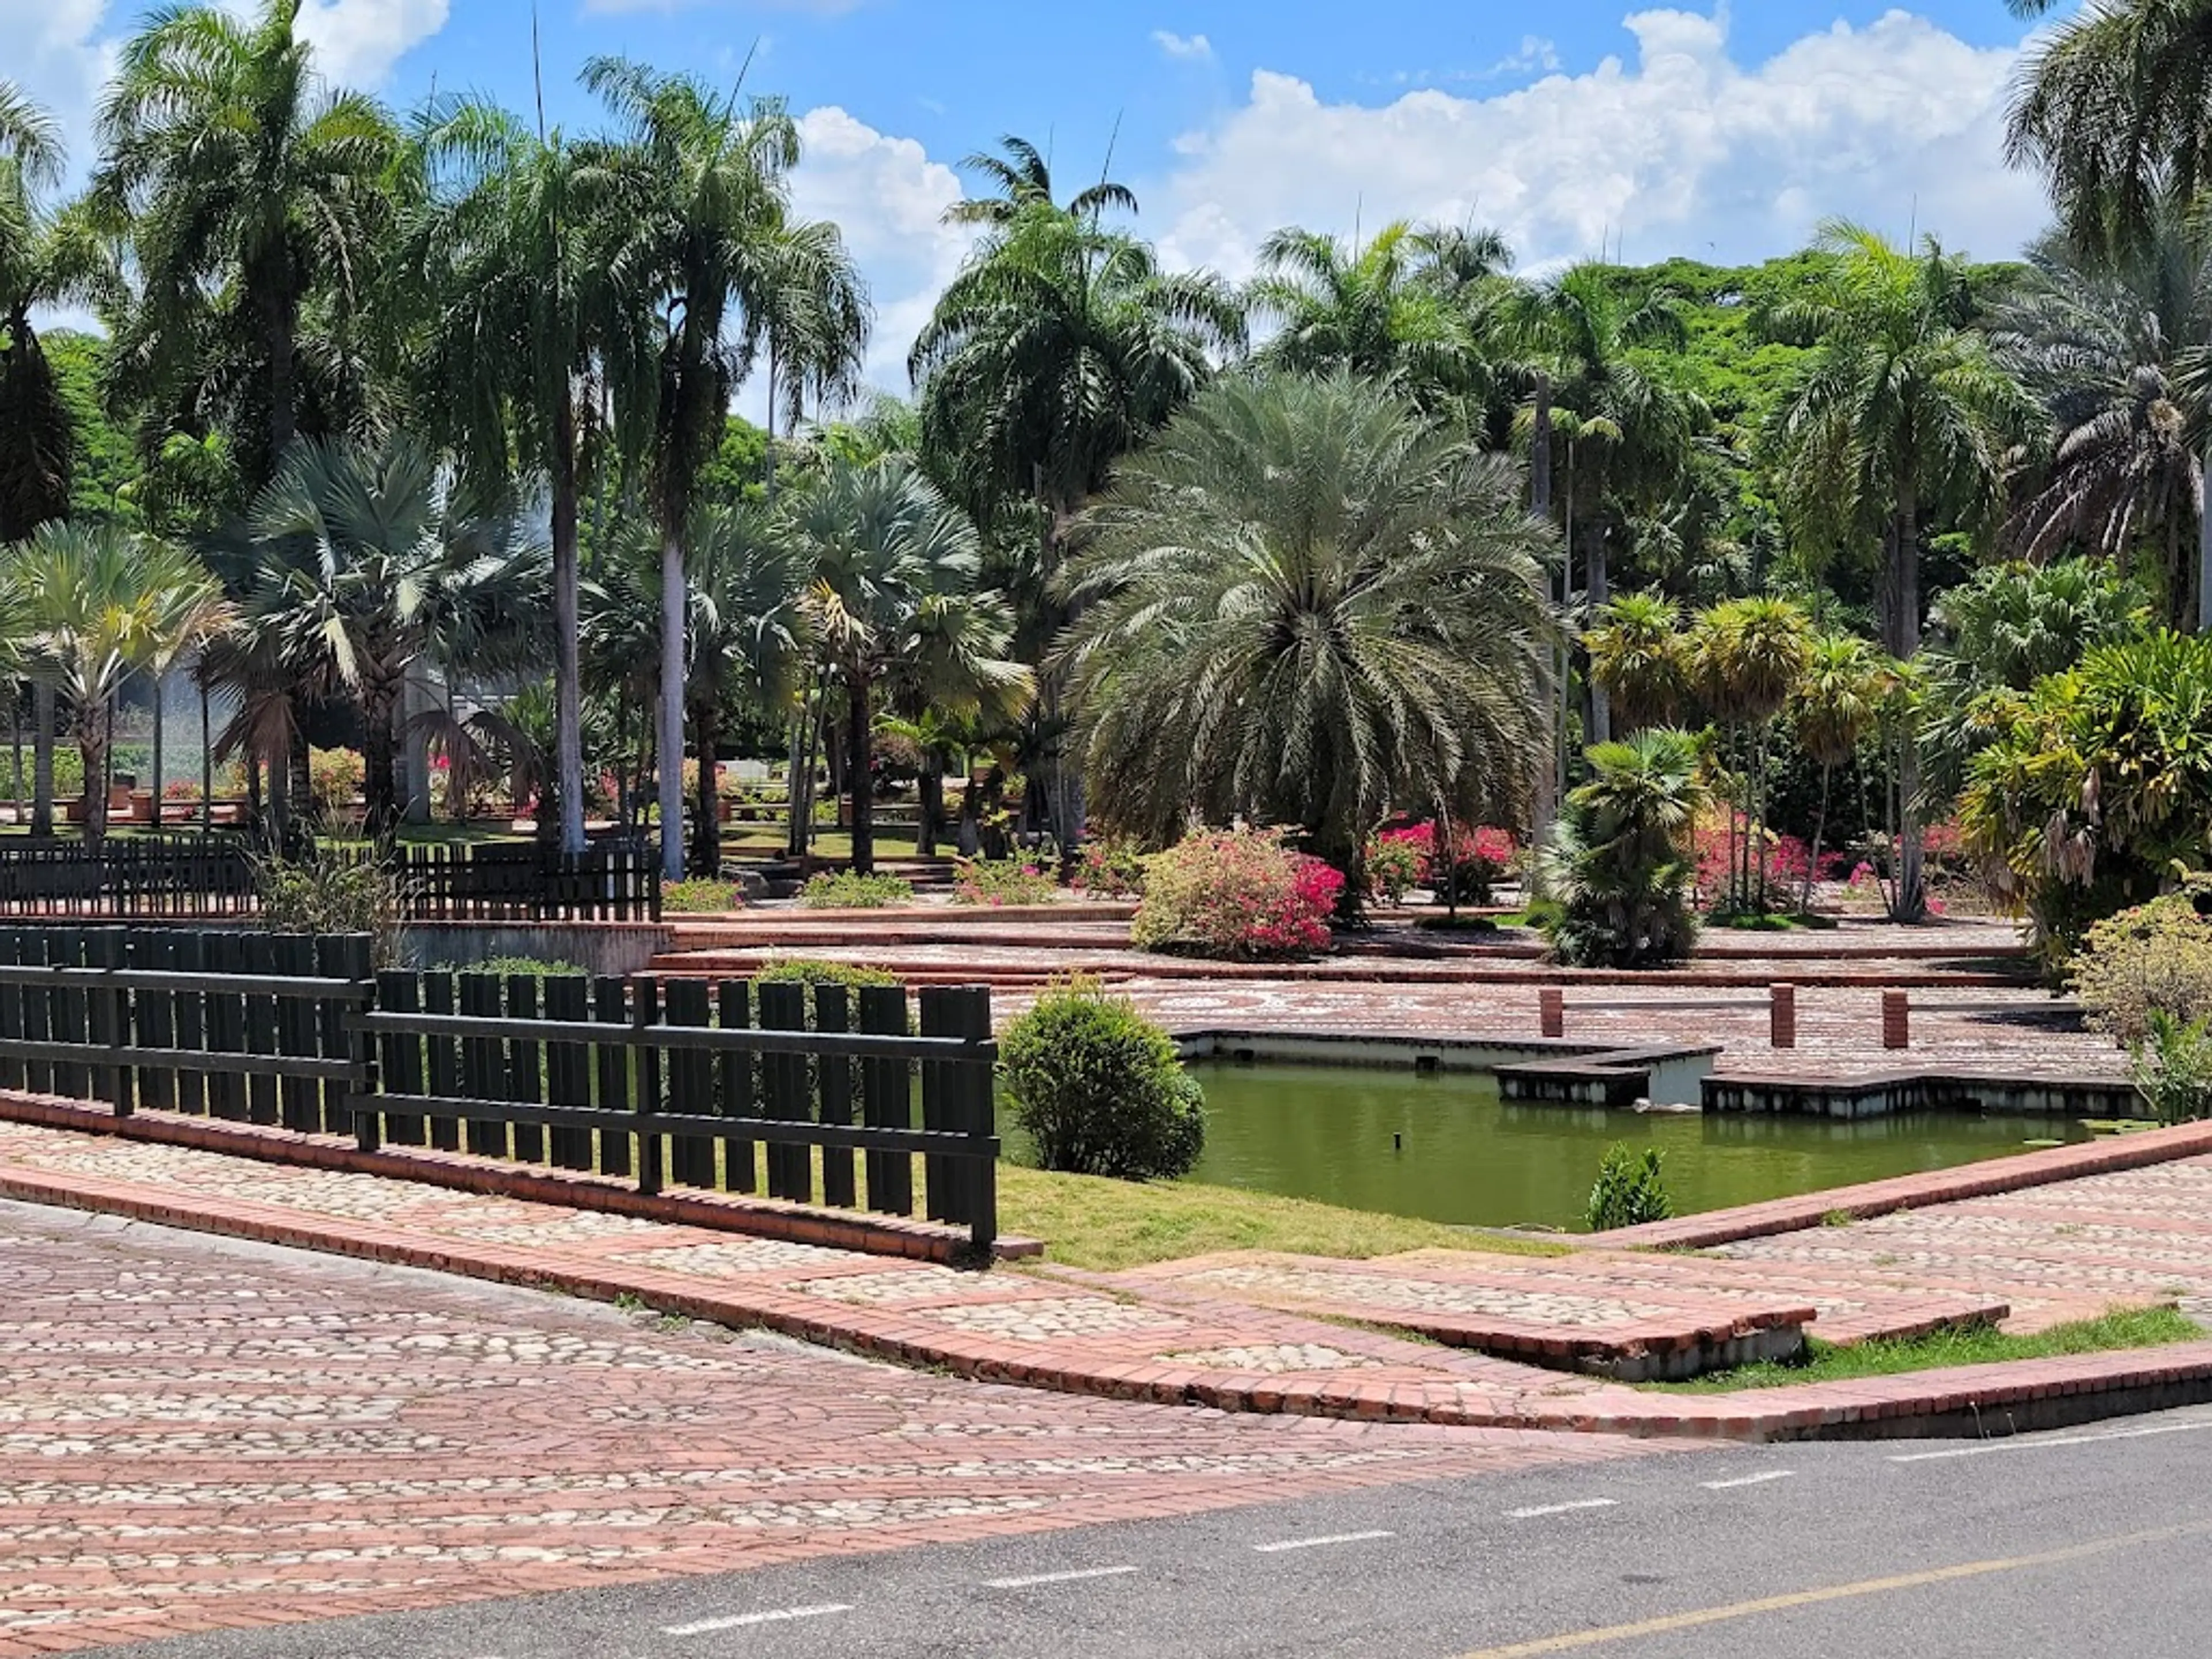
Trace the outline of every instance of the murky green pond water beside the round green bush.
{"label": "murky green pond water beside the round green bush", "polygon": [[1681,1214],[2088,1139],[2070,1119],[1927,1113],[1829,1121],[1506,1106],[1480,1073],[1201,1064],[1190,1179],[1460,1225],[1582,1223],[1613,1141],[1666,1152]]}

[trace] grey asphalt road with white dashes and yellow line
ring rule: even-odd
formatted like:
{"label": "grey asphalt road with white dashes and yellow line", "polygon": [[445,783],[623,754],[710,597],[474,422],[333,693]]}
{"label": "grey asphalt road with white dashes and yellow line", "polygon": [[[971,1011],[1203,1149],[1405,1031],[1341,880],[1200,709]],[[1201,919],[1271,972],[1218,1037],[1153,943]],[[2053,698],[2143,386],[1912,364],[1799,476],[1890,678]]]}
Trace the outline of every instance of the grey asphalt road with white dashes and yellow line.
{"label": "grey asphalt road with white dashes and yellow line", "polygon": [[153,1659],[2201,1659],[2212,1409],[1697,1451],[192,1637]]}

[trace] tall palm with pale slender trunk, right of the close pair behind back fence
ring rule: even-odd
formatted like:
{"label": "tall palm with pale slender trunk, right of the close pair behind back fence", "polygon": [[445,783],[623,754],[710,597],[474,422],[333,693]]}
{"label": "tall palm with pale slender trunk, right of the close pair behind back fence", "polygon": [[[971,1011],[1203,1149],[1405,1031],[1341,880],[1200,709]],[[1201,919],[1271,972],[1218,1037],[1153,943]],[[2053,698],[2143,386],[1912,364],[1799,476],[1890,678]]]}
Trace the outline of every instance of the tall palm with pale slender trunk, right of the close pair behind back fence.
{"label": "tall palm with pale slender trunk, right of the close pair behind back fence", "polygon": [[730,398],[768,330],[799,126],[774,100],[741,104],[690,75],[619,58],[595,58],[584,84],[606,100],[628,146],[628,226],[613,261],[653,290],[615,396],[624,449],[646,462],[661,533],[661,869],[681,878],[684,533]]}

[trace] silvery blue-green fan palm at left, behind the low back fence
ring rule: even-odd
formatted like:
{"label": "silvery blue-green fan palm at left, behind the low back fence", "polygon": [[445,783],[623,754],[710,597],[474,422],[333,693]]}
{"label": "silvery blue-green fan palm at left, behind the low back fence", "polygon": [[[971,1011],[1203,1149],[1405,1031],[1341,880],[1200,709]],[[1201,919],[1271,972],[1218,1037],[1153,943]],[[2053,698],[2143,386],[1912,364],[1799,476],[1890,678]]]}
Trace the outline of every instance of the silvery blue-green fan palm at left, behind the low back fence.
{"label": "silvery blue-green fan palm at left, behind the low back fence", "polygon": [[243,633],[268,639],[303,684],[352,697],[367,827],[387,836],[398,827],[396,714],[409,666],[526,633],[544,549],[511,515],[456,500],[407,440],[376,451],[301,445],[254,502],[252,526],[263,564]]}

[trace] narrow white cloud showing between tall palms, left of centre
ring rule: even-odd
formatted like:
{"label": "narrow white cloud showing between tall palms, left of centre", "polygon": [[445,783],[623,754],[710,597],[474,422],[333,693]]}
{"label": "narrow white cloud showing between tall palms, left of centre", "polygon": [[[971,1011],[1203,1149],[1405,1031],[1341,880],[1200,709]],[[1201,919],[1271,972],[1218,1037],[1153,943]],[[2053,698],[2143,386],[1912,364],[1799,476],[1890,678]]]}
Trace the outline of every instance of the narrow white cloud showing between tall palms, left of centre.
{"label": "narrow white cloud showing between tall palms, left of centre", "polygon": [[[867,378],[902,394],[907,349],[973,246],[971,230],[945,223],[962,195],[960,175],[931,161],[916,139],[878,133],[836,106],[807,111],[799,144],[792,204],[843,228],[876,296]],[[748,403],[759,396],[761,387],[748,387]]]}

